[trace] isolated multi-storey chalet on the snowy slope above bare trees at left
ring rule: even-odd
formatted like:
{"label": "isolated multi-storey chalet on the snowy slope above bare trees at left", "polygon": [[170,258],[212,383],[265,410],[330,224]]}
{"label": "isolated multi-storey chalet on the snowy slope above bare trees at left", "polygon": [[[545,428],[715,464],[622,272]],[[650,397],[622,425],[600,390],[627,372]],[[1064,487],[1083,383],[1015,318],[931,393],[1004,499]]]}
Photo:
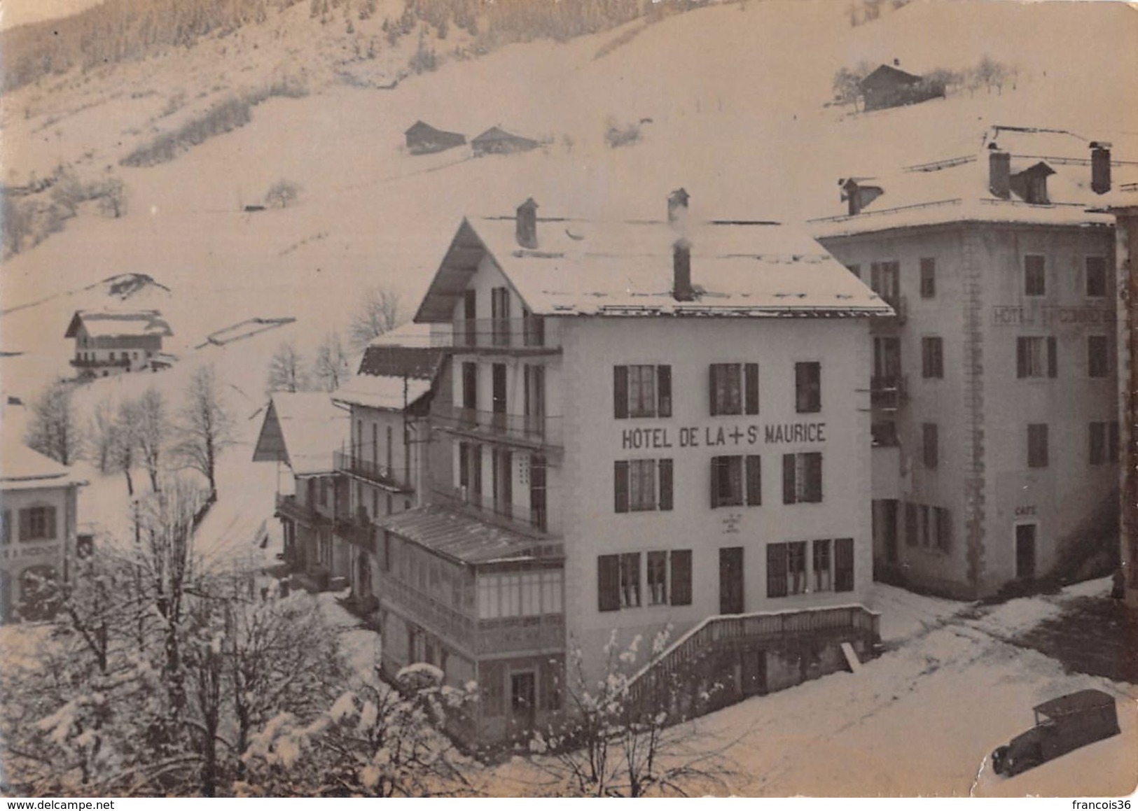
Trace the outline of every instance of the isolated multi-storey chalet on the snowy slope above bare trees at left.
{"label": "isolated multi-storey chalet on the snowy slope above bare trees at left", "polygon": [[75,339],[72,366],[83,378],[152,369],[173,332],[157,309],[76,311],[64,338]]}

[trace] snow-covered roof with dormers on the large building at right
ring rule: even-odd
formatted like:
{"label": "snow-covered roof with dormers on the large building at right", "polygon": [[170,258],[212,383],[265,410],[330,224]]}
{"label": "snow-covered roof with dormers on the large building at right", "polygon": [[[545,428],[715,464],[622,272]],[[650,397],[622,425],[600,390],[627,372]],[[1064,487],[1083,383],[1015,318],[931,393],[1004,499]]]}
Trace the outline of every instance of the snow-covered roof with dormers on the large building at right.
{"label": "snow-covered roof with dormers on the large building at right", "polygon": [[[882,193],[853,215],[839,213],[846,208],[846,198],[844,192],[835,193],[832,215],[811,220],[809,225],[818,239],[956,222],[1110,225],[1111,216],[1097,209],[1114,192],[1098,195],[1091,189],[1090,143],[1065,130],[993,126],[975,152],[858,179],[859,185],[880,188]],[[995,148],[1009,154],[1012,175],[1052,172],[1049,202],[1029,204],[1014,188],[1008,199],[996,197],[989,183],[989,155]],[[1118,154],[1111,157],[1114,188],[1138,174],[1138,164],[1120,160]]]}

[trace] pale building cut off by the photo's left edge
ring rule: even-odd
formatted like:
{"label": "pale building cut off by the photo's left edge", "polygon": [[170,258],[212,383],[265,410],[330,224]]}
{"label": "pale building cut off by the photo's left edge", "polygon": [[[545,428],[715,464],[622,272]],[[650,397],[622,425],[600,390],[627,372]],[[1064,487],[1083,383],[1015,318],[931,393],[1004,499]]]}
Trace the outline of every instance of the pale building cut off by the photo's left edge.
{"label": "pale building cut off by the photo's left edge", "polygon": [[[0,469],[0,622],[46,619],[43,587],[66,581],[75,553],[76,495],[71,470],[7,435]],[[50,601],[49,601],[50,602]]]}

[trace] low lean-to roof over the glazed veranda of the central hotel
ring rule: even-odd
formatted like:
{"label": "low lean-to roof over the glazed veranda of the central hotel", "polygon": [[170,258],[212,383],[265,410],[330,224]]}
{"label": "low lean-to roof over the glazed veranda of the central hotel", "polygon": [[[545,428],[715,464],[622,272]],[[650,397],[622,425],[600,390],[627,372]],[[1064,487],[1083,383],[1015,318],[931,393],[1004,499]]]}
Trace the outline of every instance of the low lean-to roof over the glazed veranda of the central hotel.
{"label": "low lean-to roof over the glazed veranda of the central hotel", "polygon": [[549,544],[437,504],[380,516],[376,523],[460,563],[537,557],[537,547]]}

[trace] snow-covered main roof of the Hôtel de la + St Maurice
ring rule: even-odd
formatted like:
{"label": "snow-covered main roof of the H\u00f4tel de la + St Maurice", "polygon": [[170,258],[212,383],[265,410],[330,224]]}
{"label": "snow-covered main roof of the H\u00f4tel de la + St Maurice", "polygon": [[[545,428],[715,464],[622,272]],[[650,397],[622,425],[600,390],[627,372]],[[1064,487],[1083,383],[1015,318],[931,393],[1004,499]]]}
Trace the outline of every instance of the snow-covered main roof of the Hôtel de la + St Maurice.
{"label": "snow-covered main roof of the H\u00f4tel de la + St Maurice", "polygon": [[[691,250],[694,300],[673,295],[674,246]],[[521,248],[512,217],[463,220],[419,307],[420,323],[450,322],[485,256],[537,315],[783,316],[889,314],[869,288],[799,227],[712,221],[539,220]]]}

